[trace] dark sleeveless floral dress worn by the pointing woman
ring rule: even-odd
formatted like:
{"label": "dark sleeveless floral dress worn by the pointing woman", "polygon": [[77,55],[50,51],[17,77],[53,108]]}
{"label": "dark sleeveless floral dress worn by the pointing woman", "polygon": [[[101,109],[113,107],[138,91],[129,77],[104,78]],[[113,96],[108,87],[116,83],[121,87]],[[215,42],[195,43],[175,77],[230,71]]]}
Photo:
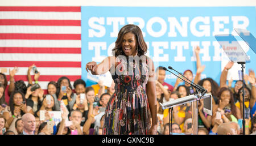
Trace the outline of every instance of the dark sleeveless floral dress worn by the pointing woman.
{"label": "dark sleeveless floral dress worn by the pointing woman", "polygon": [[148,134],[151,126],[146,95],[148,59],[138,62],[123,58],[117,62],[112,74],[115,92],[106,106],[103,134]]}

